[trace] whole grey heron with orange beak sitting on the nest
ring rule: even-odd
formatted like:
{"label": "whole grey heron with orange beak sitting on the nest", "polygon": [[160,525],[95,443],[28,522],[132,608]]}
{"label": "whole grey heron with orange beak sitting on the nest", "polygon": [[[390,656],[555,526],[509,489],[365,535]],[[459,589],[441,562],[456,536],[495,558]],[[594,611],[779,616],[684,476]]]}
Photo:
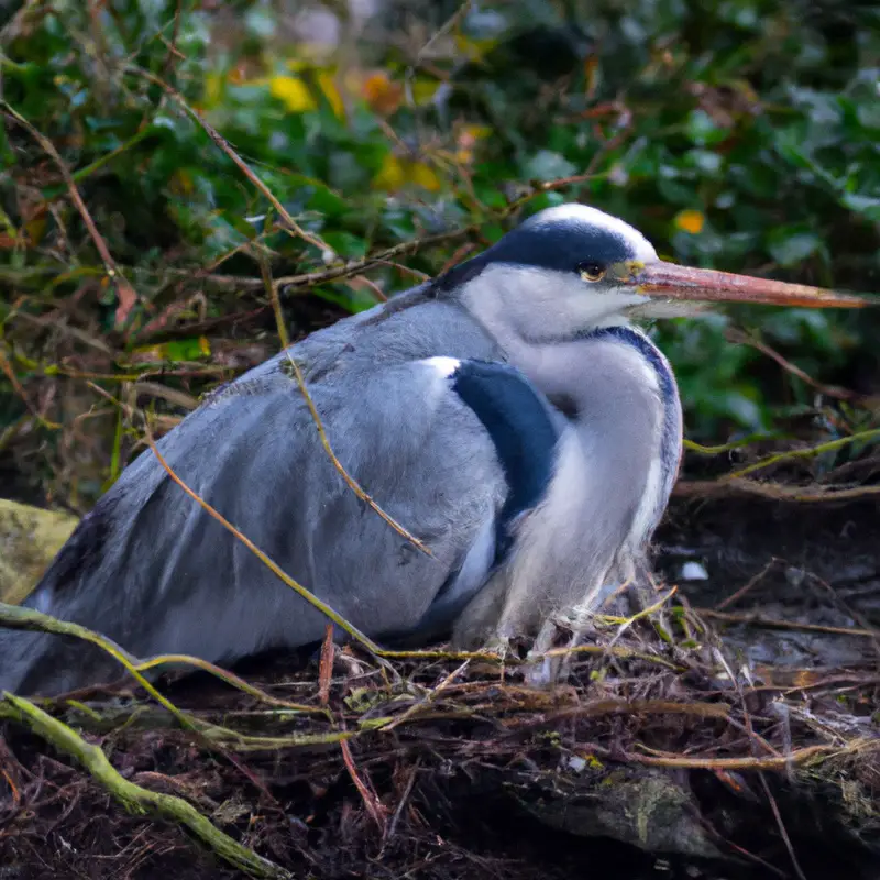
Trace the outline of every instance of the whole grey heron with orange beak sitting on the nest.
{"label": "whole grey heron with orange beak sitting on the nest", "polygon": [[[595,609],[644,559],[682,444],[666,358],[631,326],[688,300],[861,306],[829,290],[659,260],[582,205],[312,333],[158,442],[174,472],[302,585],[376,638],[534,636]],[[334,453],[419,552],[345,484]],[[321,639],[326,617],[141,454],[24,603],[130,653],[230,663]],[[54,694],[120,669],[81,641],[0,630],[0,689]]]}

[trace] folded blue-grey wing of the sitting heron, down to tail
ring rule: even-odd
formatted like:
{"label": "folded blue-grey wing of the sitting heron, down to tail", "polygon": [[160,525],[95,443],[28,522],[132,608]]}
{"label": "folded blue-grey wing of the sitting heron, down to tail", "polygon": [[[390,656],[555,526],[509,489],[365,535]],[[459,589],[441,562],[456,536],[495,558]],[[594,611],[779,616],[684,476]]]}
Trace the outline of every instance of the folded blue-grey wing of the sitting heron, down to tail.
{"label": "folded blue-grey wing of the sitting heron, down to tail", "polygon": [[[282,359],[206,402],[160,449],[187,485],[363,631],[417,629],[451,579],[448,616],[494,556],[507,487],[492,440],[426,362],[340,367],[310,393],[340,462],[432,557],[345,485]],[[84,518],[25,605],[138,657],[215,662],[309,644],[328,623],[148,451]],[[81,641],[0,631],[0,690],[57,693],[120,674]]]}

